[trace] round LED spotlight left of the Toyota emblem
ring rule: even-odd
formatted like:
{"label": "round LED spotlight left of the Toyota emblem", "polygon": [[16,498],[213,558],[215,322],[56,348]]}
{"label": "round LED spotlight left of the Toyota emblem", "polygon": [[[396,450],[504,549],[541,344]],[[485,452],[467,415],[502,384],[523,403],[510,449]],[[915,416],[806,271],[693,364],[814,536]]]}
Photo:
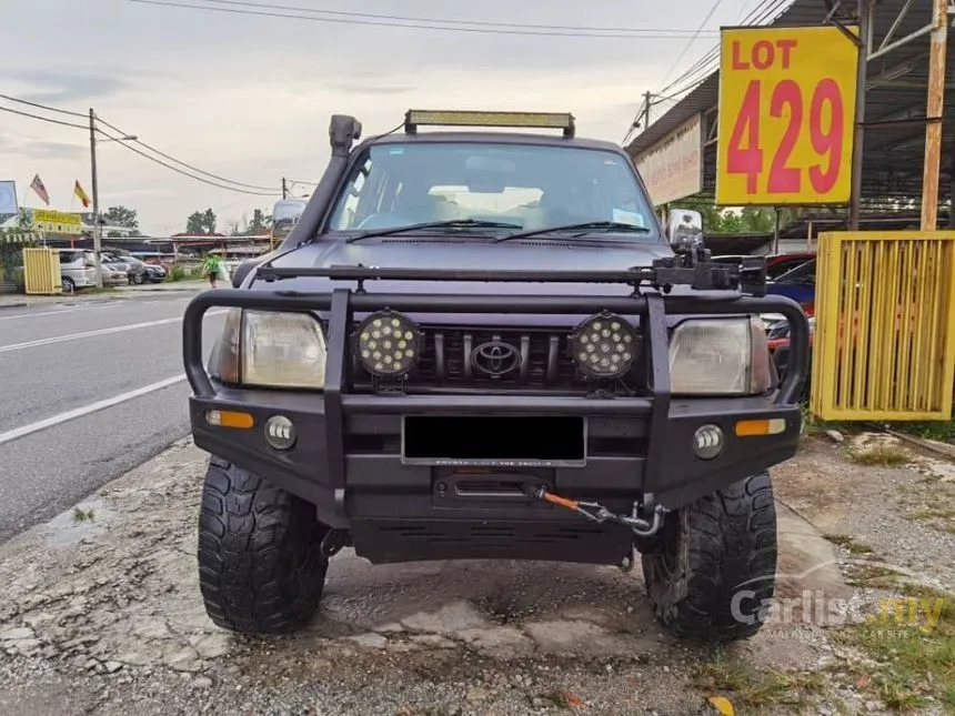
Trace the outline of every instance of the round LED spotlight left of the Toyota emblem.
{"label": "round LED spotlight left of the Toyota emblem", "polygon": [[421,334],[408,316],[395,311],[379,311],[359,326],[355,351],[364,370],[372,375],[404,375],[418,363]]}

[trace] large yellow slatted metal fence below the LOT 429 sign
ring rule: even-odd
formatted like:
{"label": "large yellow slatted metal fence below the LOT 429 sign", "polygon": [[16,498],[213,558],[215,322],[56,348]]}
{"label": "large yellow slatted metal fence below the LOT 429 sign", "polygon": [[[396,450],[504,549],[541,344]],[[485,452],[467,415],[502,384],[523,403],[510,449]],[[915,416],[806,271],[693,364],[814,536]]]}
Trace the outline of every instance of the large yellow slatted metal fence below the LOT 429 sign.
{"label": "large yellow slatted metal fence below the LOT 429 sign", "polygon": [[955,231],[820,235],[811,407],[823,420],[949,420]]}

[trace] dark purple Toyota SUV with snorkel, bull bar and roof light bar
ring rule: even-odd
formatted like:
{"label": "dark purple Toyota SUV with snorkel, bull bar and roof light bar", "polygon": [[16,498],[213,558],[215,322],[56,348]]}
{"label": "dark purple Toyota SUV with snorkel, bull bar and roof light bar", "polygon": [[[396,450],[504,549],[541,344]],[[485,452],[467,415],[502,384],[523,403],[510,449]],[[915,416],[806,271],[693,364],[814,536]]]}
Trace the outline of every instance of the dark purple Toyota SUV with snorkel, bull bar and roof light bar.
{"label": "dark purple Toyota SUV with snorkel, bull bar and roof light bar", "polygon": [[[185,313],[212,619],[296,628],[342,547],[640,553],[674,632],[754,634],[776,566],[766,470],[796,452],[808,339],[798,305],[764,296],[764,260],[711,262],[696,212],[664,229],[627,154],[570,114],[409,111],[360,134],[332,118],[289,236]],[[207,367],[212,306],[230,312]],[[763,313],[792,329],[782,382]]]}

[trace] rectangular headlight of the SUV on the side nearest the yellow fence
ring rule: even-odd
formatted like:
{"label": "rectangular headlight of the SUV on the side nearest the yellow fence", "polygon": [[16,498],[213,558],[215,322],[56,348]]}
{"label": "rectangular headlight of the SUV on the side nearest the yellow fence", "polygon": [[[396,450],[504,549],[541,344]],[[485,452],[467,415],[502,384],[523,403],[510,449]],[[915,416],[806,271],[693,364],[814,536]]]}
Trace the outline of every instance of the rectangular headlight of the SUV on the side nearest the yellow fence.
{"label": "rectangular headlight of the SUV on the side nearest the yellow fence", "polygon": [[753,395],[775,382],[766,331],[758,316],[691,319],[670,339],[674,395]]}

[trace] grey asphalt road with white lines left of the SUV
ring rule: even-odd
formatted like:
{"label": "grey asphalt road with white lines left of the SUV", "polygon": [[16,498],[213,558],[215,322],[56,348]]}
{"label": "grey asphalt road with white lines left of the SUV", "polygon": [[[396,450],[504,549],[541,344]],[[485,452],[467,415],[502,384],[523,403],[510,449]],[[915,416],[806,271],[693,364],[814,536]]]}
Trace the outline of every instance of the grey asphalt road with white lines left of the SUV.
{"label": "grey asphalt road with white lines left of the SUV", "polygon": [[[190,298],[0,310],[0,542],[188,434]],[[207,355],[221,325],[213,309]]]}

